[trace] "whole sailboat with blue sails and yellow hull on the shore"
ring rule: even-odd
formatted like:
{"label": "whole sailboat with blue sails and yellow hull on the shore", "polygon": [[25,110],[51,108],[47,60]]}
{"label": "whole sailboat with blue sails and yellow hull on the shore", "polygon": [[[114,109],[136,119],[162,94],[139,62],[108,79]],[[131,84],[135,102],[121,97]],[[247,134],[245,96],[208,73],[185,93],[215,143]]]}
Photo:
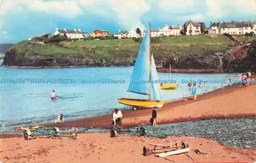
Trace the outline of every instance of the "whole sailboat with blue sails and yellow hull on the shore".
{"label": "whole sailboat with blue sails and yellow hull on the shore", "polygon": [[[148,99],[121,98],[121,104],[132,106],[133,110],[139,108],[163,107],[162,92],[157,82],[157,69],[153,54],[151,54],[151,25],[146,30],[138,56],[134,65],[130,85],[127,91],[135,94],[147,95]],[[153,95],[153,96],[152,96]]]}

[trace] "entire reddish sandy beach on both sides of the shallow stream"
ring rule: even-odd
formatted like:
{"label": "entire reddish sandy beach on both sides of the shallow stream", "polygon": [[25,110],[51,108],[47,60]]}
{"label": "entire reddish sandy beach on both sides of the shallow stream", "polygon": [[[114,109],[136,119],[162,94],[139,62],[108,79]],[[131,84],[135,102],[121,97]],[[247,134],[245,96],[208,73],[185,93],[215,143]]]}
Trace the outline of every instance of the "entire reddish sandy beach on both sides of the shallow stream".
{"label": "entire reddish sandy beach on both sides of the shallow stream", "polygon": [[[168,102],[158,109],[158,124],[202,120],[210,118],[256,117],[256,84],[242,87],[237,84],[198,96],[197,100]],[[86,118],[48,126],[110,128],[112,115]],[[123,111],[123,127],[150,124],[151,109]],[[253,132],[253,131],[252,131]],[[190,151],[186,154],[143,156],[143,146],[150,143],[175,144],[184,141]],[[110,133],[80,133],[77,139],[37,136],[25,141],[22,135],[1,135],[2,162],[254,162],[256,149],[232,148],[199,137],[164,139]],[[196,153],[194,150],[199,150]],[[202,154],[204,153],[204,154]]]}

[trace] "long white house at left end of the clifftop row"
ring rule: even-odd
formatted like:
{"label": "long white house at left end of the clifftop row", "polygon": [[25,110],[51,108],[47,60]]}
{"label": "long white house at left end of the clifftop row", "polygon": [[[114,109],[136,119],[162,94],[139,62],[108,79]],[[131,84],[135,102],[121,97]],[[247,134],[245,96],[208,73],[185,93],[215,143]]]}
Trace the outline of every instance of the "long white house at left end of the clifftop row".
{"label": "long white house at left end of the clifftop row", "polygon": [[88,32],[81,32],[80,29],[76,30],[67,30],[67,29],[63,29],[63,30],[59,30],[58,28],[55,29],[55,32],[53,35],[61,35],[64,36],[66,34],[66,36],[70,39],[81,39],[81,38],[86,38],[86,37],[90,37],[90,34]]}

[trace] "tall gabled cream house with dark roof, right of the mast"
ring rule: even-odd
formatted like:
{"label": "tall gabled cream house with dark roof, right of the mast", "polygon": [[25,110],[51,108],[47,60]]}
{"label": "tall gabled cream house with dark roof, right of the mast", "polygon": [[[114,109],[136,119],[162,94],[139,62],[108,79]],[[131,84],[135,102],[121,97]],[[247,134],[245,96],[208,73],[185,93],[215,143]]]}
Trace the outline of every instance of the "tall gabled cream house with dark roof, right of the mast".
{"label": "tall gabled cream house with dark roof, right of the mast", "polygon": [[201,24],[200,22],[194,22],[188,20],[183,25],[183,34],[184,35],[199,35],[201,34]]}

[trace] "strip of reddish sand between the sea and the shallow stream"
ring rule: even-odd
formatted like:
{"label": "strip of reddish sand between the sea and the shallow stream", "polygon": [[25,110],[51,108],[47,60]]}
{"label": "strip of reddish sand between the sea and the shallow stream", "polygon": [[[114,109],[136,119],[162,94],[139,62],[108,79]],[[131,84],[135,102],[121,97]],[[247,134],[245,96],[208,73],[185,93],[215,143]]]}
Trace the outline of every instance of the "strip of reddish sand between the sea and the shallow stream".
{"label": "strip of reddish sand between the sea and the shallow stream", "polygon": [[[170,90],[172,91],[172,90]],[[199,95],[196,100],[167,102],[157,109],[157,124],[204,120],[211,118],[256,117],[256,84],[242,87],[233,85]],[[152,109],[125,110],[122,127],[150,124]],[[112,127],[112,114],[85,118],[47,126],[60,127]]]}

